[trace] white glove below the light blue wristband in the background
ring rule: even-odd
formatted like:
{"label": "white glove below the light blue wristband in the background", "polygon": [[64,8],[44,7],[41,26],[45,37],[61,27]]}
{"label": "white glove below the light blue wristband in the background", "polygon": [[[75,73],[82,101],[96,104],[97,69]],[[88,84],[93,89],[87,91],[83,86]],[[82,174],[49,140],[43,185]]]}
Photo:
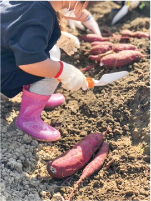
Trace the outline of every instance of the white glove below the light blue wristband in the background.
{"label": "white glove below the light blue wristband in the background", "polygon": [[101,31],[98,26],[98,23],[94,20],[93,16],[91,15],[86,22],[83,22],[83,25],[90,29],[94,34],[101,36]]}

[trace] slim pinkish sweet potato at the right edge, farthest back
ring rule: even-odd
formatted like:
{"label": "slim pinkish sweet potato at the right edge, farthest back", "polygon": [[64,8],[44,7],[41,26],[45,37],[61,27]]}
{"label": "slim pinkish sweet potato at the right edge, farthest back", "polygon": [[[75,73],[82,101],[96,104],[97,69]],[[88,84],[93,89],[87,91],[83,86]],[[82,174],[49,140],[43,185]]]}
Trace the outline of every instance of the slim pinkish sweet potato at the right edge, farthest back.
{"label": "slim pinkish sweet potato at the right edge, farthest back", "polygon": [[130,30],[123,30],[121,31],[122,36],[127,36],[127,37],[133,37],[133,38],[149,38],[151,39],[151,36],[143,31],[130,31]]}

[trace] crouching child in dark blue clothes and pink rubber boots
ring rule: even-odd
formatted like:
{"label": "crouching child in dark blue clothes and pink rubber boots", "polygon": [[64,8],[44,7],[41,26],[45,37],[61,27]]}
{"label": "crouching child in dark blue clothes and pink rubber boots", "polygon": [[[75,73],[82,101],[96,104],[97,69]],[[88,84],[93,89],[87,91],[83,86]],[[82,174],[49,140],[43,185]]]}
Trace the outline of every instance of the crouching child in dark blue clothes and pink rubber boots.
{"label": "crouching child in dark blue clothes and pink rubber boots", "polygon": [[[58,79],[63,88],[87,90],[83,73],[50,59],[60,38],[56,12],[86,21],[89,0],[2,0],[0,3],[0,92],[11,98],[23,89],[17,127],[39,141],[56,141],[60,133],[44,123],[41,112],[54,93]],[[55,79],[54,79],[55,78]]]}

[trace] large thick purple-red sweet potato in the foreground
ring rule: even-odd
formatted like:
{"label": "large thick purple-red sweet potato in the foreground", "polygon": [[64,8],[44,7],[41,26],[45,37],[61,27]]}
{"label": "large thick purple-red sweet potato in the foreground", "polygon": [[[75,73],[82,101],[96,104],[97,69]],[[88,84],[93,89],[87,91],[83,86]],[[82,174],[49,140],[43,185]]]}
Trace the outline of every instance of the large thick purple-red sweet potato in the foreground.
{"label": "large thick purple-red sweet potato in the foreground", "polygon": [[80,170],[96,152],[103,142],[103,134],[92,133],[86,136],[71,150],[49,161],[48,173],[55,178],[64,178]]}

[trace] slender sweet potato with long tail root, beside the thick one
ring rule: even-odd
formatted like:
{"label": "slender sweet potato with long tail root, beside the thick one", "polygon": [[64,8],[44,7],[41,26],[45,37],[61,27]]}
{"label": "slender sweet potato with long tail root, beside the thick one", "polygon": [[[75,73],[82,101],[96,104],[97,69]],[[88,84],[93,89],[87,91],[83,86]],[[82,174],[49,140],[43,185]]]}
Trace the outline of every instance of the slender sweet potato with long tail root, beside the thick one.
{"label": "slender sweet potato with long tail root, beside the thick one", "polygon": [[101,148],[99,149],[96,157],[84,168],[83,173],[79,179],[79,181],[76,183],[73,191],[71,192],[69,196],[69,201],[72,198],[73,193],[77,189],[78,185],[86,178],[90,177],[93,173],[98,171],[104,164],[104,161],[107,157],[109,150],[109,145],[106,142],[103,142],[101,145]]}

